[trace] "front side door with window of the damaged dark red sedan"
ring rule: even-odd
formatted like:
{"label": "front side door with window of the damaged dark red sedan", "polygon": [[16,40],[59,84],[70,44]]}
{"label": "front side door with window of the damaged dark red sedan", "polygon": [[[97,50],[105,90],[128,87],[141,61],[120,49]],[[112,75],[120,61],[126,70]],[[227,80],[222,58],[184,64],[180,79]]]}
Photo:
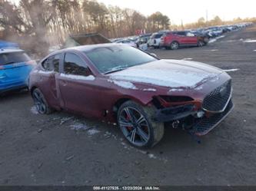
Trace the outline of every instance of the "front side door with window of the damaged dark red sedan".
{"label": "front side door with window of the damaged dark red sedan", "polygon": [[65,53],[63,69],[58,75],[58,88],[65,110],[78,114],[93,113],[91,100],[95,97],[95,77],[78,54]]}

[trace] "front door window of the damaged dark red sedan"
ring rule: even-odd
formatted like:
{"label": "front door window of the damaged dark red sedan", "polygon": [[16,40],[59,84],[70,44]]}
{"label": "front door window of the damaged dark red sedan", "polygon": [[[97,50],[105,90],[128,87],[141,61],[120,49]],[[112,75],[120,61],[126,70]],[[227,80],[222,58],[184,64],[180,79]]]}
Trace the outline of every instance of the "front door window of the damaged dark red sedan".
{"label": "front door window of the damaged dark red sedan", "polygon": [[85,61],[81,60],[76,54],[66,53],[64,58],[64,72],[65,74],[74,74],[88,76],[91,74]]}

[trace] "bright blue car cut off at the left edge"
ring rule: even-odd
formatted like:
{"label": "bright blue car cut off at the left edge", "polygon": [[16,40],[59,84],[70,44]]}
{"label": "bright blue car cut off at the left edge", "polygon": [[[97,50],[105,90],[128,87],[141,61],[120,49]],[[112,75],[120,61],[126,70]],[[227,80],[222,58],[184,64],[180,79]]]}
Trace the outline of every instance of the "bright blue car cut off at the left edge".
{"label": "bright blue car cut off at the left edge", "polygon": [[21,49],[0,49],[0,94],[27,88],[35,64]]}

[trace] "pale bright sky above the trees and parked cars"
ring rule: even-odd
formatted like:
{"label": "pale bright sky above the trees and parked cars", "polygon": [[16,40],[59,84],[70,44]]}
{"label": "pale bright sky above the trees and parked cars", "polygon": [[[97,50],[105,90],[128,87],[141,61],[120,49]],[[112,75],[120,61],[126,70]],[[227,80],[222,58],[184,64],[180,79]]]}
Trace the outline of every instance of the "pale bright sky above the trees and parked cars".
{"label": "pale bright sky above the trees and parked cars", "polygon": [[[19,0],[12,0],[19,2]],[[98,0],[105,5],[118,5],[121,8],[133,8],[144,15],[162,12],[171,19],[172,24],[197,21],[198,18],[208,20],[218,15],[222,20],[241,17],[256,17],[255,0]]]}

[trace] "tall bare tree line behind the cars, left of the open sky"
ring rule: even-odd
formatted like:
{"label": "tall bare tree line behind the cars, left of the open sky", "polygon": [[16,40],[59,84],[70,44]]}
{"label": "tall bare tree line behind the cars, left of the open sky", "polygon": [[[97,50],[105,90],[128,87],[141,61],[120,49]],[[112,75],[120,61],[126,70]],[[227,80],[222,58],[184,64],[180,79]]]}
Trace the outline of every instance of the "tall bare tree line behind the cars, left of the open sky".
{"label": "tall bare tree line behind the cars, left of the open sky", "polygon": [[49,43],[61,44],[69,34],[100,32],[108,38],[168,29],[168,16],[146,17],[131,8],[106,6],[95,0],[21,0],[18,5],[0,0],[0,31],[6,39],[22,41],[35,52]]}

